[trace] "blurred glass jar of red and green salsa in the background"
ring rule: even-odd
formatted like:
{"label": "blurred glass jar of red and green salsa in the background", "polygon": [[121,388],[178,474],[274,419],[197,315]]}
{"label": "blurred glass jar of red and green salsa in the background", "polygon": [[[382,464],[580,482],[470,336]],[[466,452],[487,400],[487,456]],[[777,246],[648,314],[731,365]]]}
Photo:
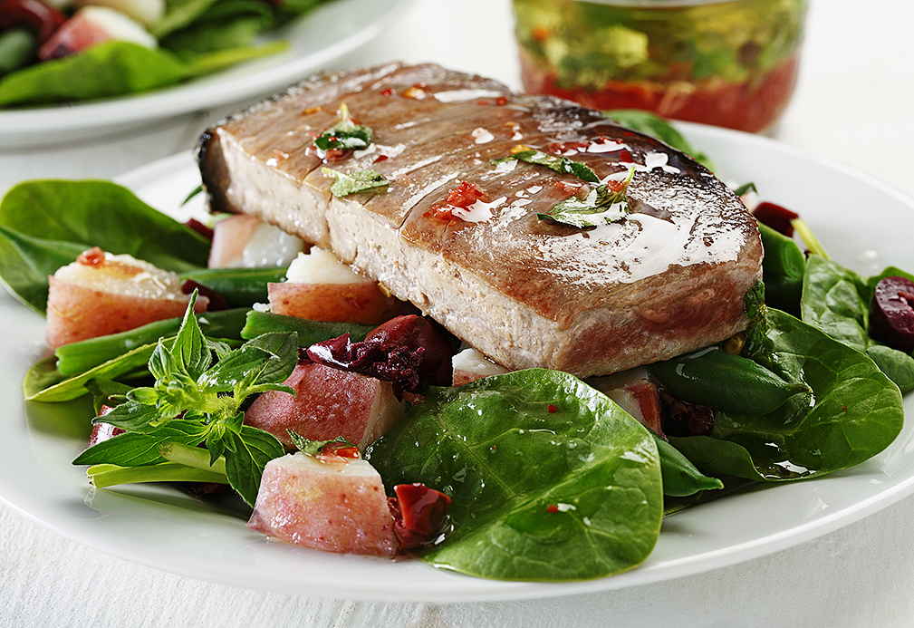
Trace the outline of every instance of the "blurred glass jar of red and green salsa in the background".
{"label": "blurred glass jar of red and green salsa in the background", "polygon": [[796,83],[807,0],[513,2],[530,93],[755,133]]}

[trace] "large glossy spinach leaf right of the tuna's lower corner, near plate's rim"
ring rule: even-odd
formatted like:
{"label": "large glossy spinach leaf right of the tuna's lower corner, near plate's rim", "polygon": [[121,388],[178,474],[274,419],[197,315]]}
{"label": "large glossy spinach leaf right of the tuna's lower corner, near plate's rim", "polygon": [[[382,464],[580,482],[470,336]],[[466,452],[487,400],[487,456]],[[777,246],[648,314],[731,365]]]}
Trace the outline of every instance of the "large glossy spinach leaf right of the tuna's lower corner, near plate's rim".
{"label": "large glossy spinach leaf right of the tuna's lower corner, near plate's rim", "polygon": [[767,328],[744,353],[788,381],[813,389],[765,415],[717,412],[709,437],[670,442],[711,475],[796,480],[862,463],[883,451],[904,422],[901,394],[864,354],[769,309]]}

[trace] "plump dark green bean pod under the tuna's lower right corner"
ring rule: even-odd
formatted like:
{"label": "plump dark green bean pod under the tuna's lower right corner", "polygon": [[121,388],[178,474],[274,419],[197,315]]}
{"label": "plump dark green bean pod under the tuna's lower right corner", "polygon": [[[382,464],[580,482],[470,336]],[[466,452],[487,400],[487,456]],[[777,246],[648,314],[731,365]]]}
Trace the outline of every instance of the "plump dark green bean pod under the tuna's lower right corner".
{"label": "plump dark green bean pod under the tuna's lower right corner", "polygon": [[716,346],[647,368],[670,395],[733,414],[767,414],[792,395],[810,390]]}

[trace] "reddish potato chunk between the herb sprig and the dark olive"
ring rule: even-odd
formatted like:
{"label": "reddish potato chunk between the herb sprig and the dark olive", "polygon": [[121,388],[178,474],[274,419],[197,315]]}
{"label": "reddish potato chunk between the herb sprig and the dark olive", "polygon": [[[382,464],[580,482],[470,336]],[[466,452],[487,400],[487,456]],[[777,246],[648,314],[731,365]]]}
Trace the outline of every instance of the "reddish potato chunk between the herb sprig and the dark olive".
{"label": "reddish potato chunk between the herb sprig and the dark olive", "polygon": [[269,431],[292,446],[289,430],[312,441],[338,436],[365,447],[377,441],[402,417],[406,404],[399,401],[390,382],[303,361],[286,379],[295,390],[269,390],[245,412],[245,422]]}

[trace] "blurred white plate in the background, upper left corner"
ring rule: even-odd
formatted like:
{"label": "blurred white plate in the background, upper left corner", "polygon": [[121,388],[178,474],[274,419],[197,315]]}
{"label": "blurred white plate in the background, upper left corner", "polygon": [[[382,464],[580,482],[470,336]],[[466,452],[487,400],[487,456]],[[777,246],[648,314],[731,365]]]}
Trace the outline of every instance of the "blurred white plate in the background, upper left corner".
{"label": "blurred white plate in the background, upper left corner", "polygon": [[333,0],[270,38],[290,48],[148,94],[0,111],[0,147],[35,146],[130,128],[282,90],[377,37],[410,0]]}

